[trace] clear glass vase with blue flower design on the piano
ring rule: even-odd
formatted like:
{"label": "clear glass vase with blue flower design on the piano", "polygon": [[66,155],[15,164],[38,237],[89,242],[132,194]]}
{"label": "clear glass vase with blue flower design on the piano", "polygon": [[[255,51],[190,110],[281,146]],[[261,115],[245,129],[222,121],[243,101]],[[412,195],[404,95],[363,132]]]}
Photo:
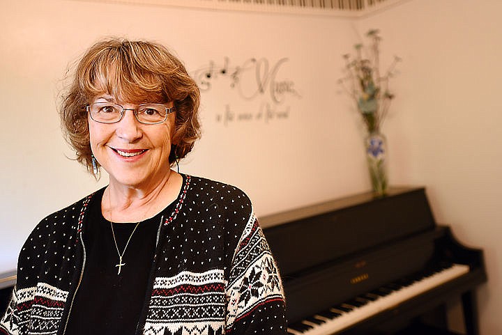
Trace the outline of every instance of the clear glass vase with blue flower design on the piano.
{"label": "clear glass vase with blue flower design on the piano", "polygon": [[365,141],[366,157],[374,196],[385,196],[387,177],[387,139],[378,131],[370,132]]}

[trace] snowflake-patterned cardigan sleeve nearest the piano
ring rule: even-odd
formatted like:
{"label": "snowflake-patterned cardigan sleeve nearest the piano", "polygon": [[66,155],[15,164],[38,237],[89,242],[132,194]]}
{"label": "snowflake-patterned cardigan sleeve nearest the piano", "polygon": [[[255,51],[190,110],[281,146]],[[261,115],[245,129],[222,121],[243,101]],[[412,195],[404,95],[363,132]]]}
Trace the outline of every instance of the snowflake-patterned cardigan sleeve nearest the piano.
{"label": "snowflake-patterned cardigan sleeve nearest the piano", "polygon": [[226,334],[286,334],[280,274],[254,215],[232,259],[227,300]]}

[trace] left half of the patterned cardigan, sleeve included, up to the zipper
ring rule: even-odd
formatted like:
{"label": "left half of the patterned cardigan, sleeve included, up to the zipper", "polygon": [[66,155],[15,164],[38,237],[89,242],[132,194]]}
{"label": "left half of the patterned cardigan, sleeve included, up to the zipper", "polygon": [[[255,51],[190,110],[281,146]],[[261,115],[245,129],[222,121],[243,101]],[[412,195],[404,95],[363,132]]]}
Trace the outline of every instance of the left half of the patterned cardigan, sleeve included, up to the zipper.
{"label": "left half of the patterned cardigan, sleeve included, up to the zipper", "polygon": [[0,335],[56,334],[74,270],[82,208],[83,200],[47,215],[27,237],[10,303],[0,315]]}

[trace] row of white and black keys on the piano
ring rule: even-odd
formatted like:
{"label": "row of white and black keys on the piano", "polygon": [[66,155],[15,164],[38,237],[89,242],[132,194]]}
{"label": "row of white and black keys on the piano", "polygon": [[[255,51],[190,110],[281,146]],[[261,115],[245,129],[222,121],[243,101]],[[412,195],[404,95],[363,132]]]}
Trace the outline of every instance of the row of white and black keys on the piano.
{"label": "row of white and black keys on the piano", "polygon": [[290,324],[288,334],[330,335],[339,332],[467,272],[469,272],[468,265],[449,264],[420,274],[414,279],[401,279],[360,295],[349,302],[321,311],[310,318]]}

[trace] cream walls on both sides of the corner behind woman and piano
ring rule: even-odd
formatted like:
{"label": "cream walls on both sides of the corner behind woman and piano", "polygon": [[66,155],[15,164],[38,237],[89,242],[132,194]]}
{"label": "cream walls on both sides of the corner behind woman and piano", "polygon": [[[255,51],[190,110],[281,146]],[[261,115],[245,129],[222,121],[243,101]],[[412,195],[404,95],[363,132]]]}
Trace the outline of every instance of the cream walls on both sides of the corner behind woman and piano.
{"label": "cream walls on both sides of the corner behind woman and piano", "polygon": [[[390,181],[425,185],[438,221],[485,250],[489,283],[479,290],[482,335],[502,333],[499,198],[502,124],[500,1],[411,0],[356,22],[333,17],[188,10],[82,1],[0,0],[0,272],[31,228],[98,185],[71,157],[59,131],[57,88],[68,62],[102,36],[158,40],[195,70],[231,56],[277,61],[303,98],[286,122],[224,127],[215,116],[228,90],[203,93],[204,137],[181,171],[245,189],[259,215],[369,187],[362,129],[337,93],[341,54],[369,28],[381,29],[383,63],[400,55],[397,98],[383,131]],[[115,15],[119,20],[110,23]],[[148,24],[144,24],[144,22]],[[220,81],[220,84],[221,85]],[[22,106],[22,107],[20,107]],[[20,114],[29,114],[29,120]],[[105,178],[106,179],[106,178]],[[459,327],[455,322],[455,327]]]}

